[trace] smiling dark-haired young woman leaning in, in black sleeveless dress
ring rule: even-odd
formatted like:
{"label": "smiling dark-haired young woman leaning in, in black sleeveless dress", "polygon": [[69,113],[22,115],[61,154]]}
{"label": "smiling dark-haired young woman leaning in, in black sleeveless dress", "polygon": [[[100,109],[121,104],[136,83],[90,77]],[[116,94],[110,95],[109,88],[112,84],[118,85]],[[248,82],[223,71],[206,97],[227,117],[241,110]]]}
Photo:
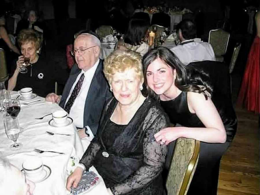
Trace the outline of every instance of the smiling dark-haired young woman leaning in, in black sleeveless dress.
{"label": "smiling dark-haired young woman leaning in, in black sleeveless dress", "polygon": [[155,139],[165,144],[179,137],[199,140],[200,156],[188,194],[217,194],[220,159],[237,129],[231,101],[221,93],[211,100],[205,72],[183,65],[166,47],[152,49],[142,63],[149,94],[159,98],[171,123],[179,124],[162,129]]}

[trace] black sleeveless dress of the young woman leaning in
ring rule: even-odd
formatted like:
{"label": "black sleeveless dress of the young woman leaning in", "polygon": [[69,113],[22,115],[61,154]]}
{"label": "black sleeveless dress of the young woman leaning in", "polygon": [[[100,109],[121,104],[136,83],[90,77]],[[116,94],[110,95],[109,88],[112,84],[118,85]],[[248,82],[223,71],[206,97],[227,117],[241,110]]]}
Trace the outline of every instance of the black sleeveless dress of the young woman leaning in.
{"label": "black sleeveless dress of the young woman leaning in", "polygon": [[[181,92],[173,100],[160,102],[171,123],[185,127],[205,127],[198,116],[189,111],[187,92]],[[187,193],[189,195],[217,194],[220,159],[232,141],[237,129],[237,118],[232,104],[224,100],[224,97],[212,98],[212,102],[216,106],[226,129],[227,141],[224,144],[200,142],[200,156]]]}

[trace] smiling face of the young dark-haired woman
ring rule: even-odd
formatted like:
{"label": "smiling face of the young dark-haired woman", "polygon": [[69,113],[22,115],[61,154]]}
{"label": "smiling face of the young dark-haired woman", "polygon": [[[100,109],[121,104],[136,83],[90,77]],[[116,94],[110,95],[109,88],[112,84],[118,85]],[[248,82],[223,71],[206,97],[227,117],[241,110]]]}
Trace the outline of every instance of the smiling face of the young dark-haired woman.
{"label": "smiling face of the young dark-haired woman", "polygon": [[147,67],[147,84],[157,95],[166,95],[175,86],[174,74],[170,66],[157,58]]}

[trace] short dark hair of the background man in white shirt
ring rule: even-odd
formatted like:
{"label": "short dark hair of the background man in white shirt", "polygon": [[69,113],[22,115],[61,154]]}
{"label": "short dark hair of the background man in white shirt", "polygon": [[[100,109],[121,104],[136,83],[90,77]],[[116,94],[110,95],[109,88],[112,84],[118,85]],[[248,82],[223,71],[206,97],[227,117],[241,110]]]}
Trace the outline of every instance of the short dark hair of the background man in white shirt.
{"label": "short dark hair of the background man in white shirt", "polygon": [[177,25],[184,39],[195,39],[197,34],[196,24],[192,20],[184,19]]}

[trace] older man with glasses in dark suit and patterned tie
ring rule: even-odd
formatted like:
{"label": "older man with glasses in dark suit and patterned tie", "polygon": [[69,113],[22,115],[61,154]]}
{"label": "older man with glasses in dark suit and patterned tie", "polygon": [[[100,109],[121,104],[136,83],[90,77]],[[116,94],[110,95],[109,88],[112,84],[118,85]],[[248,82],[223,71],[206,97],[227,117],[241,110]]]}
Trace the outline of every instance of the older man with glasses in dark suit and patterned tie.
{"label": "older man with glasses in dark suit and patterned tie", "polygon": [[46,101],[59,102],[67,111],[79,136],[96,134],[105,102],[112,96],[103,75],[103,60],[99,59],[101,43],[95,33],[79,34],[74,41],[74,56],[77,64],[71,69],[62,97],[55,93],[46,96]]}

